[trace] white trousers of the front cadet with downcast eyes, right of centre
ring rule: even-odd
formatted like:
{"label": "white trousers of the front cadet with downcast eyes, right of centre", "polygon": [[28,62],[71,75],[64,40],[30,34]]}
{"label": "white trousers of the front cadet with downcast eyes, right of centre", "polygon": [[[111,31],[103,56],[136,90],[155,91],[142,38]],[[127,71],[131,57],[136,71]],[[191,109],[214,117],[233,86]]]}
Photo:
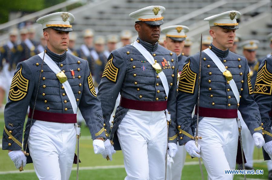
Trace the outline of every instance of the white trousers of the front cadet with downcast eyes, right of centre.
{"label": "white trousers of the front cadet with downcast eyes, right of centre", "polygon": [[238,145],[236,118],[203,117],[199,121],[198,135],[200,155],[206,167],[209,180],[230,180],[233,175],[225,170],[235,169]]}

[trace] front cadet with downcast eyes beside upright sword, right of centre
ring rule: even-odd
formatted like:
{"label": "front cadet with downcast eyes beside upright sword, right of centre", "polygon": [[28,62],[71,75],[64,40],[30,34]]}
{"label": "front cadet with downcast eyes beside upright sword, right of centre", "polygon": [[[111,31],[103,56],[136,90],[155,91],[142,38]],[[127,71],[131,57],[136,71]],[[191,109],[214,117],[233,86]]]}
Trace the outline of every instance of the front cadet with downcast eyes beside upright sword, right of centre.
{"label": "front cadet with downcast eyes beside upright sword, right of centre", "polygon": [[[229,51],[238,29],[238,11],[227,11],[204,19],[209,21],[213,42],[202,51],[199,97],[198,147],[193,130],[197,104],[200,52],[188,57],[180,75],[177,96],[179,144],[193,157],[202,157],[208,179],[229,180],[238,150],[237,109],[240,110],[257,147],[264,144],[261,116],[253,98],[247,60]],[[196,107],[197,110],[197,107]],[[196,114],[196,113],[195,113]],[[201,147],[201,148],[200,148]],[[198,154],[199,153],[199,154]],[[238,162],[241,163],[241,157]]]}

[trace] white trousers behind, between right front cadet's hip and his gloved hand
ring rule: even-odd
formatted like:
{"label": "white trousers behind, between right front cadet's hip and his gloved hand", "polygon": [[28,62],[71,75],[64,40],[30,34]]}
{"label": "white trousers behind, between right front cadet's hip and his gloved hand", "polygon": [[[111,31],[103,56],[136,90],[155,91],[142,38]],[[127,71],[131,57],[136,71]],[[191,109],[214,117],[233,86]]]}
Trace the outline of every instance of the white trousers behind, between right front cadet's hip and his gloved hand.
{"label": "white trousers behind, between right front cadet's hip and his gloved hand", "polygon": [[253,152],[254,152],[254,139],[248,129],[248,126],[245,124],[240,111],[238,111],[238,119],[241,121],[241,136],[242,136],[242,144],[244,150],[244,156],[247,160],[245,166],[253,167]]}

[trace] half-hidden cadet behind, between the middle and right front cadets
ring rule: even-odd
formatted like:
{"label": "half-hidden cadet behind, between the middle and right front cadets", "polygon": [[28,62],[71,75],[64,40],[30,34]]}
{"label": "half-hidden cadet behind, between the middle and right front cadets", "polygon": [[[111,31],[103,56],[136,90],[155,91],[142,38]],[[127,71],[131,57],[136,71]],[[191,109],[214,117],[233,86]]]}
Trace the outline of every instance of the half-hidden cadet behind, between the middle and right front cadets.
{"label": "half-hidden cadet behind, between the middle and right front cadets", "polygon": [[[178,57],[178,71],[181,73],[186,56],[182,53],[186,34],[189,31],[187,26],[175,25],[161,29],[166,34],[164,47],[176,53]],[[178,74],[179,77],[179,74]],[[167,156],[167,180],[176,180],[181,178],[181,172],[186,159],[186,150],[184,146],[178,146],[178,152],[174,158]]]}

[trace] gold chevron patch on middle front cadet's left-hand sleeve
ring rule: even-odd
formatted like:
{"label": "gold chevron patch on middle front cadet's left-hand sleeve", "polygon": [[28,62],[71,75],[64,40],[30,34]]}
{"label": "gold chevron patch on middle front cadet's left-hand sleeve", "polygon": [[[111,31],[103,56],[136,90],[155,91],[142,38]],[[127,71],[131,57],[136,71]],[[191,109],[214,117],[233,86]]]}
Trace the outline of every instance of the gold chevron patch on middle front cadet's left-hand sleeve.
{"label": "gold chevron patch on middle front cadet's left-hand sleeve", "polygon": [[118,68],[114,66],[114,64],[112,63],[113,60],[113,55],[111,54],[112,58],[110,60],[108,60],[104,72],[102,74],[102,78],[106,77],[108,80],[115,82],[117,80],[117,75],[118,75]]}

